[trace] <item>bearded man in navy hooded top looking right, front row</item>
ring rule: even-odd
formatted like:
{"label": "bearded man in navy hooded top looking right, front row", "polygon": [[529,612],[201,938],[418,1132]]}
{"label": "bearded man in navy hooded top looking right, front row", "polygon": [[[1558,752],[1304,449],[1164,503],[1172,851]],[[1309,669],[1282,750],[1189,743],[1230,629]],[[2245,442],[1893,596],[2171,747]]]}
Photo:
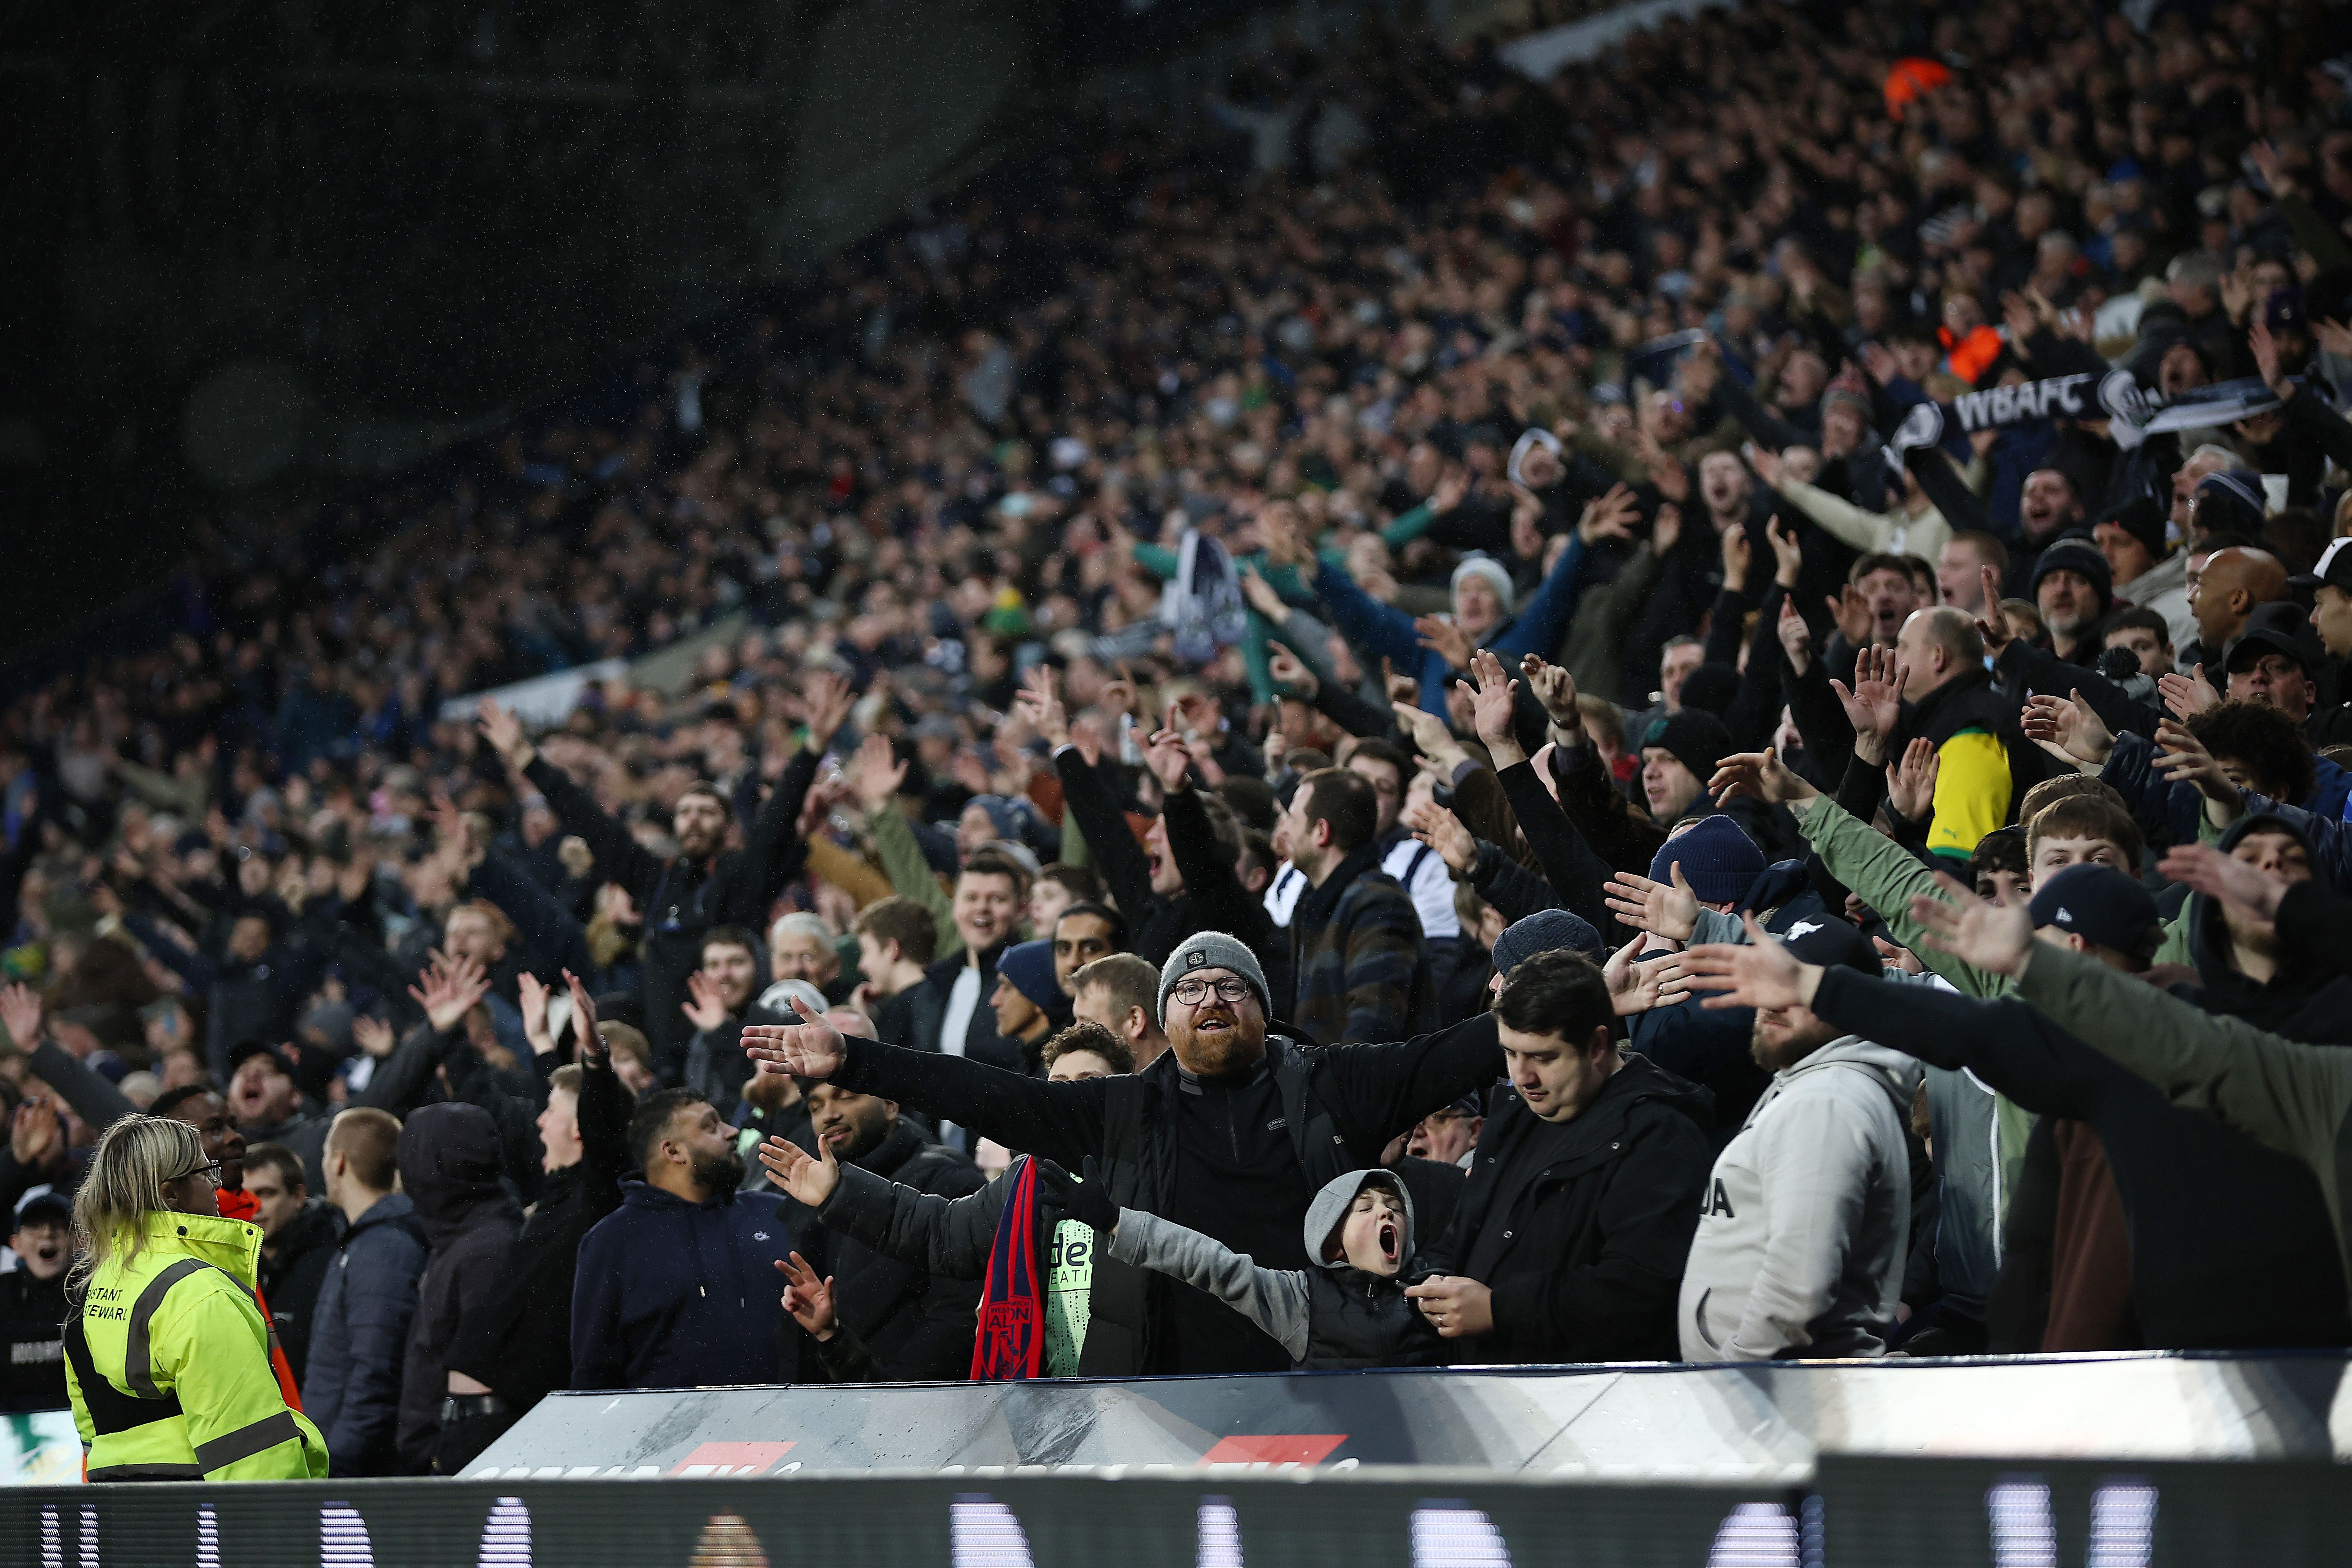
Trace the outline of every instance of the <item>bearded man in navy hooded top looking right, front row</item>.
{"label": "bearded man in navy hooded top looking right, front row", "polygon": [[734,1128],[666,1088],[637,1103],[628,1150],[642,1180],[621,1182],[621,1206],[581,1239],[572,1387],[797,1380],[800,1331],[774,1284],[793,1225],[774,1192],[736,1192]]}

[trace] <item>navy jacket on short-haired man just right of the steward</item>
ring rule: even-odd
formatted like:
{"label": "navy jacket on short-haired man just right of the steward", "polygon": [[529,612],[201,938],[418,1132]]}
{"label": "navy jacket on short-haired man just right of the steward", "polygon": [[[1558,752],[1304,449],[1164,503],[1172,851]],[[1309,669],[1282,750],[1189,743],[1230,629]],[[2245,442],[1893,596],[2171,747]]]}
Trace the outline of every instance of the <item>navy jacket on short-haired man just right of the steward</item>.
{"label": "navy jacket on short-haired man just right of the steward", "polygon": [[327,1439],[329,1474],[397,1476],[400,1368],[426,1272],[426,1229],[407,1194],[376,1199],[343,1232],[310,1319],[303,1413]]}

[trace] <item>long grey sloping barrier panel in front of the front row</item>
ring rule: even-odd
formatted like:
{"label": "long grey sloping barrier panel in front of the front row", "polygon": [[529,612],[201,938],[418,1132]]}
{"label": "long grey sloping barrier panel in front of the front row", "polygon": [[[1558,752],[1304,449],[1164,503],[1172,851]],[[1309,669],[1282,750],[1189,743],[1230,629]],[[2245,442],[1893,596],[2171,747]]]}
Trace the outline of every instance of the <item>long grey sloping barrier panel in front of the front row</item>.
{"label": "long grey sloping barrier panel in front of the front row", "polygon": [[2343,1373],[2333,1352],[2105,1354],[557,1394],[468,1479],[1414,1465],[1799,1486],[1823,1455],[2326,1462],[2352,1458]]}

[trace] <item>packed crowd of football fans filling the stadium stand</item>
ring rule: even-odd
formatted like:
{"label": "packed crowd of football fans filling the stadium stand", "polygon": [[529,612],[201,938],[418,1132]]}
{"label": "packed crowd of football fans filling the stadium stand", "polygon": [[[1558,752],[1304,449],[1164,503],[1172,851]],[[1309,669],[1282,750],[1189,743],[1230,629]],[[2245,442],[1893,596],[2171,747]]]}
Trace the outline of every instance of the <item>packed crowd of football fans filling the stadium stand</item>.
{"label": "packed crowd of football fans filling the stadium stand", "polygon": [[7,1403],[132,1112],[353,1476],[555,1389],[2345,1345],[2343,33],[1287,49],[221,541],[0,715]]}

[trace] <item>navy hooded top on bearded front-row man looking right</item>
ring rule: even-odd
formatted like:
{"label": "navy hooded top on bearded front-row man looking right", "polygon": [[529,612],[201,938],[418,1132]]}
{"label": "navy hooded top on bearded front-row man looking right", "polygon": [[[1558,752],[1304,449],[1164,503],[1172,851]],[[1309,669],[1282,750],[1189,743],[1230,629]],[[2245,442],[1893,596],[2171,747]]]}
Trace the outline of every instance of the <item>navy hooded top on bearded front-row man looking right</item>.
{"label": "navy hooded top on bearded front-row man looking right", "polygon": [[722,1192],[689,1204],[649,1182],[621,1182],[621,1206],[581,1241],[572,1387],[691,1389],[795,1378],[800,1328],[783,1312],[776,1272],[807,1225],[807,1211],[795,1218],[795,1208],[774,1192]]}

